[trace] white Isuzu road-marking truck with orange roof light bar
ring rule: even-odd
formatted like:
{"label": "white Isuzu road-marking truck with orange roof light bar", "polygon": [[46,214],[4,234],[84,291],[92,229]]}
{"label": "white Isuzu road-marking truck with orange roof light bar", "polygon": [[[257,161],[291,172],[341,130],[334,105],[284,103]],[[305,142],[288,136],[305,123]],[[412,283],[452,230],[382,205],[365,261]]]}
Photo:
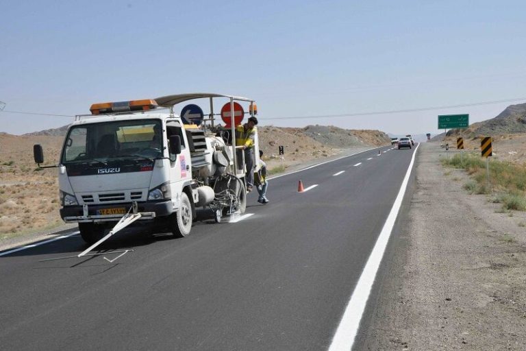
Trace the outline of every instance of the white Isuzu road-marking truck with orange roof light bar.
{"label": "white Isuzu road-marking truck with orange roof light bar", "polygon": [[[173,112],[191,99],[210,100],[200,126]],[[75,117],[68,128],[58,165],[40,166],[42,147],[34,145],[39,167],[58,167],[62,219],[79,223],[82,239],[94,244],[132,221],[186,237],[198,213],[208,211],[217,222],[244,213],[244,152],[236,147],[235,123],[214,126],[214,99],[229,104],[223,120],[239,117],[239,102],[257,113],[253,99],[208,93],[94,104],[91,115]],[[259,165],[257,132],[253,154]],[[121,225],[124,218],[129,223]]]}

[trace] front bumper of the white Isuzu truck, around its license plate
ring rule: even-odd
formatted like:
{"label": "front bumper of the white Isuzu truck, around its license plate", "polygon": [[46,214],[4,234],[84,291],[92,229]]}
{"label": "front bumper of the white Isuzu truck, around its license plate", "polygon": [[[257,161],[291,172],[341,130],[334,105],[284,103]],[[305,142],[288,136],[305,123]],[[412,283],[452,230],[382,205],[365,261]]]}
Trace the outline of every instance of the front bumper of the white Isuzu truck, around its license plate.
{"label": "front bumper of the white Isuzu truck, around its license plate", "polygon": [[[65,206],[60,208],[60,217],[66,223],[118,221],[132,207],[132,204],[88,205],[86,207],[87,210],[85,210],[84,206]],[[125,213],[101,214],[101,210],[122,210],[123,208]],[[164,217],[175,212],[171,200],[138,203],[137,211],[141,214],[140,220]]]}

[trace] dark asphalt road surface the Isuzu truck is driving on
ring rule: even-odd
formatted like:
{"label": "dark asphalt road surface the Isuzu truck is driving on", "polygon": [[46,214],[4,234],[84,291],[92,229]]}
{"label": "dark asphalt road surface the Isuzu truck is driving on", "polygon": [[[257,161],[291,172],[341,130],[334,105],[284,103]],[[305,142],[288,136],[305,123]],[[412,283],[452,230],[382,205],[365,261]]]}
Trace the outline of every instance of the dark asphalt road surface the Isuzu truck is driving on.
{"label": "dark asphalt road surface the Isuzu truck is driving on", "polygon": [[101,250],[133,250],[118,258],[42,261],[82,252],[78,235],[0,256],[0,348],[327,350],[413,152],[272,179],[269,204],[251,193],[251,215],[184,239],[117,234]]}

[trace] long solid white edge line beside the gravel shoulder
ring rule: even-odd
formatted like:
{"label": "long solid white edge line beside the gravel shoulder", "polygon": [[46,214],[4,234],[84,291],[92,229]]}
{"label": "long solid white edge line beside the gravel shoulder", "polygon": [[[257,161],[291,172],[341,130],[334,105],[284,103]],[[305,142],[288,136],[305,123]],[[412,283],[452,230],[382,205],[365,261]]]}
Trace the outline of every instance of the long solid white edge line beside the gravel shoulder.
{"label": "long solid white edge line beside the gravel shoulder", "polygon": [[343,313],[340,325],[338,325],[338,329],[336,329],[329,351],[349,351],[353,347],[354,338],[360,327],[360,320],[362,320],[362,315],[369,294],[371,293],[373,283],[375,282],[381,258],[386,251],[392,227],[395,226],[395,220],[397,219],[402,204],[405,189],[408,187],[409,177],[414,164],[414,157],[416,156],[416,149],[418,149],[418,146],[414,149],[413,157],[409,164],[408,171],[405,172],[405,177],[403,178],[397,198],[392,204],[391,211],[386,219],[386,223],[384,223],[384,228],[381,229],[375,247],[373,247],[373,251],[367,259],[367,263],[362,271],[360,279],[358,280],[358,284],[351,295],[351,300],[349,300],[349,304],[347,304],[347,307],[345,308],[345,312]]}

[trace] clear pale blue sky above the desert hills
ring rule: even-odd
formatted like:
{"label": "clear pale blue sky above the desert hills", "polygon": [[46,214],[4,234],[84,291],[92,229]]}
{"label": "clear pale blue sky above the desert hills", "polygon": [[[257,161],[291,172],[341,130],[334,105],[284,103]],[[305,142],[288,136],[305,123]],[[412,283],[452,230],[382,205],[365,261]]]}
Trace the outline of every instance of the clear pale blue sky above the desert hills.
{"label": "clear pale blue sky above the desert hills", "polygon": [[469,113],[473,123],[526,102],[280,118],[526,98],[525,1],[0,0],[0,8],[0,132],[10,134],[73,121],[14,112],[86,114],[96,102],[177,93],[251,97],[261,125],[395,134],[438,134],[438,114]]}

